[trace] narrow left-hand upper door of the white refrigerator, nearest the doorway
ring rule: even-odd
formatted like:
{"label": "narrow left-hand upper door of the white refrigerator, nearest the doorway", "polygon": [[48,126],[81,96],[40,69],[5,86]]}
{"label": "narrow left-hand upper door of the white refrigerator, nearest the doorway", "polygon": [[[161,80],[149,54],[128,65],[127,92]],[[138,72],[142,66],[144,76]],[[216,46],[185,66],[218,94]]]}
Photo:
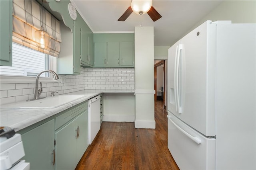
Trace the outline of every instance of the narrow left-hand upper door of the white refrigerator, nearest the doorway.
{"label": "narrow left-hand upper door of the white refrigerator, nearest the doorway", "polygon": [[177,63],[177,55],[178,49],[180,46],[180,41],[172,45],[170,49],[168,49],[168,110],[180,117],[178,113],[178,106],[177,106],[177,94],[176,94],[176,82],[174,80],[175,73],[176,73],[176,63]]}

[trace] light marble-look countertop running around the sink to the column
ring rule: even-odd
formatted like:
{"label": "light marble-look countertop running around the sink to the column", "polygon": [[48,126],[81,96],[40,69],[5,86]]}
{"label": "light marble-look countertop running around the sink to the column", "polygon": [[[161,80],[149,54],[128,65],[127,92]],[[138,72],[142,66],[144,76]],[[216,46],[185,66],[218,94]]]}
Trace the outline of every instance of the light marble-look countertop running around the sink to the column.
{"label": "light marble-look countertop running around the sink to the column", "polygon": [[8,126],[13,128],[15,131],[19,131],[101,93],[134,93],[134,90],[81,90],[63,94],[82,95],[84,97],[52,109],[14,109],[2,108],[1,106],[0,124],[1,126]]}

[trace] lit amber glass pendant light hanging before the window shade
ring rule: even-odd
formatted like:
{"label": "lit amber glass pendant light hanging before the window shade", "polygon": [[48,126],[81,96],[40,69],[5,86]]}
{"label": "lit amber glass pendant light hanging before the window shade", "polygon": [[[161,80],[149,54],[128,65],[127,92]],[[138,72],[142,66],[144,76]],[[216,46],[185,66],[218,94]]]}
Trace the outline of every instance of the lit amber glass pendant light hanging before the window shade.
{"label": "lit amber glass pendant light hanging before the window shade", "polygon": [[42,1],[42,6],[41,6],[40,20],[41,20],[41,27],[40,27],[40,29],[36,30],[36,32],[35,32],[36,43],[37,43],[38,47],[40,47],[42,49],[46,49],[46,48],[48,48],[48,45],[49,45],[50,35],[46,31],[44,31],[43,1]]}

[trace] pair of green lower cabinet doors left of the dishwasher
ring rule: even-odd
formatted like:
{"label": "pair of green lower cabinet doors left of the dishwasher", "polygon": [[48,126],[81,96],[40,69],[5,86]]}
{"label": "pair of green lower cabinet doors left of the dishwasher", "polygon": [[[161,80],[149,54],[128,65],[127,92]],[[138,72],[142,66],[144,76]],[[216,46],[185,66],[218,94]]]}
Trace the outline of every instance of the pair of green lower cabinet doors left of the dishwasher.
{"label": "pair of green lower cabinet doors left of the dishwasher", "polygon": [[88,111],[56,131],[56,170],[74,170],[88,147]]}

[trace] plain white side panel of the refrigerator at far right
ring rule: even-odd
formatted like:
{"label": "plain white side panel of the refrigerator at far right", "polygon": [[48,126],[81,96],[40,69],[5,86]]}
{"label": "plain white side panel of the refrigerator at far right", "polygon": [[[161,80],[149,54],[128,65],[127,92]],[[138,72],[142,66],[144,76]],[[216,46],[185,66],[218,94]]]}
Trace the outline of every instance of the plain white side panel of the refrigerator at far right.
{"label": "plain white side panel of the refrigerator at far right", "polygon": [[218,24],[217,42],[216,169],[255,170],[256,24]]}

